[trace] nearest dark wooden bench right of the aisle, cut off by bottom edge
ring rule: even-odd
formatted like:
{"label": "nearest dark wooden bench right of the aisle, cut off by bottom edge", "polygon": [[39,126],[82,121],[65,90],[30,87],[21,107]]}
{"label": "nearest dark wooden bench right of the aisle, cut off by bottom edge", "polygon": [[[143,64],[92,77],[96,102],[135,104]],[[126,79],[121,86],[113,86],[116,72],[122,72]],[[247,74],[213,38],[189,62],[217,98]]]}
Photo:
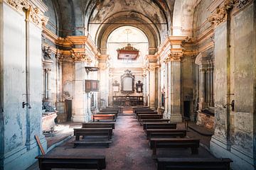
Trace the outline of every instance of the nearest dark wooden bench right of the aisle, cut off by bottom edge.
{"label": "nearest dark wooden bench right of the aisle, cut off by bottom edge", "polygon": [[231,159],[222,158],[157,158],[157,170],[229,170]]}

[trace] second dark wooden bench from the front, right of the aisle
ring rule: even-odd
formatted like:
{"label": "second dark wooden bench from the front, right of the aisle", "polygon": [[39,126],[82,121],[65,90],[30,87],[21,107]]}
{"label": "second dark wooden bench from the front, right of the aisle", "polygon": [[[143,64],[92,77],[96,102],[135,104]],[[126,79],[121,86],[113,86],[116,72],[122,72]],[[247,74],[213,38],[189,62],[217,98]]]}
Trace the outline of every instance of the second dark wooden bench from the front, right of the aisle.
{"label": "second dark wooden bench from the front, right of the aisle", "polygon": [[150,148],[156,155],[156,148],[191,148],[192,154],[198,154],[200,140],[191,138],[150,138]]}

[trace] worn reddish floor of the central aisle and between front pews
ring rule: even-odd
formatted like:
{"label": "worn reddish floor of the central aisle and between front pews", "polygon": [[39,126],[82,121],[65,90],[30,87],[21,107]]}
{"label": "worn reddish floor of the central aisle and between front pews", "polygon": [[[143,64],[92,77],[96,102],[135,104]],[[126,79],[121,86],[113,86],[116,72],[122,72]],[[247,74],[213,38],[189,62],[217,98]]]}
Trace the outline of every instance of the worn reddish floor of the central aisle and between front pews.
{"label": "worn reddish floor of the central aisle and between front pews", "polygon": [[[198,134],[197,132],[188,129],[188,138],[202,139],[204,147],[199,147],[198,154],[191,154],[191,149],[183,148],[161,148],[157,150],[156,156],[152,156],[152,149],[149,147],[149,140],[146,139],[146,134],[143,126],[140,125],[136,115],[127,113],[120,114],[114,123],[114,135],[109,148],[105,145],[78,145],[73,148],[75,137],[55,147],[48,153],[50,156],[77,156],[84,157],[85,155],[105,155],[107,170],[154,170],[157,169],[156,157],[172,157],[172,158],[214,158],[206,149],[209,145],[210,137]],[[78,128],[79,125],[75,125]],[[80,125],[80,127],[82,127]],[[178,130],[184,130],[184,123],[177,124]],[[97,139],[97,138],[96,138]],[[33,164],[28,170],[38,170],[38,163]]]}

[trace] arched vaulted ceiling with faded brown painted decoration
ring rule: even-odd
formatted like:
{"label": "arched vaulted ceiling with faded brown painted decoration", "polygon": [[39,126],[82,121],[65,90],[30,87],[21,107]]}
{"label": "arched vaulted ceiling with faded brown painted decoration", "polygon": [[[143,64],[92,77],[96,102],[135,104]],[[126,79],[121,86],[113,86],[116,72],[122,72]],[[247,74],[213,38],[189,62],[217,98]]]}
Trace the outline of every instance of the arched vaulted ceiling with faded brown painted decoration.
{"label": "arched vaulted ceiling with faded brown painted decoration", "polygon": [[[54,6],[61,36],[84,35],[97,41],[105,30],[136,26],[154,35],[157,44],[169,34],[175,0],[43,0]],[[49,2],[52,1],[52,2]],[[52,7],[50,7],[51,9]],[[53,17],[53,12],[48,12]],[[112,25],[110,25],[112,23]],[[98,45],[100,45],[98,43]]]}

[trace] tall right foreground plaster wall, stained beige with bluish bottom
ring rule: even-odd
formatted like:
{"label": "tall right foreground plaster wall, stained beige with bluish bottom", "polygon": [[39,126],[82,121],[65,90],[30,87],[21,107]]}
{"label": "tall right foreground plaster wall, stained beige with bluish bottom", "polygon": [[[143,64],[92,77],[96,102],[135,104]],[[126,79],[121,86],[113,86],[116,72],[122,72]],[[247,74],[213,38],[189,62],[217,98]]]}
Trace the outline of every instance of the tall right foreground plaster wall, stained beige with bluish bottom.
{"label": "tall right foreground plaster wall, stained beige with bluish bottom", "polygon": [[[217,157],[233,159],[231,167],[235,170],[254,169],[255,164],[254,30],[255,3],[230,13],[230,25],[224,22],[215,28],[215,135],[210,149]],[[230,77],[230,83],[227,77]],[[225,95],[228,88],[230,101]],[[235,101],[235,109],[228,114],[223,106],[232,100]]]}

